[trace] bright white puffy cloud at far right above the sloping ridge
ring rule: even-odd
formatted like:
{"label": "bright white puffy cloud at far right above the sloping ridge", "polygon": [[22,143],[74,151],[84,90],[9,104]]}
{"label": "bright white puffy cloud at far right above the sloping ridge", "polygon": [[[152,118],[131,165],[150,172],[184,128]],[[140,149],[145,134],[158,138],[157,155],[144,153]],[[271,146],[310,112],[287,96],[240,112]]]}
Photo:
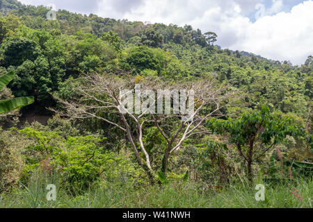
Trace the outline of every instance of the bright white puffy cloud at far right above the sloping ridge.
{"label": "bright white puffy cloud at far right above the sloping ridge", "polygon": [[[313,1],[294,6],[291,12],[265,16],[257,22],[235,22],[238,42],[230,49],[257,53],[273,60],[290,60],[295,65],[313,55]],[[235,28],[236,24],[238,26]]]}

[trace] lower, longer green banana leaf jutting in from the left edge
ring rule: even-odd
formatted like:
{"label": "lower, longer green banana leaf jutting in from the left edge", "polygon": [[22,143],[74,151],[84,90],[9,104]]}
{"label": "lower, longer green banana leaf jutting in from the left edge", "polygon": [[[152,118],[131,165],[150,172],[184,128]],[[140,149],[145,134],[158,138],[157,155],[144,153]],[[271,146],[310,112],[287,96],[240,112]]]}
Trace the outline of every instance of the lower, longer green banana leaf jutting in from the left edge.
{"label": "lower, longer green banana leaf jutting in from the left edge", "polygon": [[14,99],[6,99],[0,101],[0,114],[22,108],[25,105],[30,105],[34,102],[33,96],[19,97]]}

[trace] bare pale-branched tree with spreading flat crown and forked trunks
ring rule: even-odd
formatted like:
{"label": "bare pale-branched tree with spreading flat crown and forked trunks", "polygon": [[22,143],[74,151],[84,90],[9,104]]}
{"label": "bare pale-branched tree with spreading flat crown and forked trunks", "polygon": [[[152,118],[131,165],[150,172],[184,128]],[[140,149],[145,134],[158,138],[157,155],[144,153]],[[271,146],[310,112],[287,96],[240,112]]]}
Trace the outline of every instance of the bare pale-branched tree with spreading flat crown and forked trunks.
{"label": "bare pale-branched tree with spreading flat crown and forked trunks", "polygon": [[[160,103],[162,103],[162,108],[163,96],[169,96],[168,94],[157,94],[157,97],[150,96],[149,108],[142,108],[139,105],[140,110],[136,110],[135,112],[131,112],[129,108],[121,109],[121,107],[124,108],[125,106],[120,92],[129,89],[130,92],[136,93],[136,83],[140,84],[141,92],[143,92],[140,96],[141,103],[144,103],[144,99],[149,97],[149,95],[145,95],[145,92],[151,93],[158,90],[168,92],[170,97],[167,97],[167,99],[170,99],[171,105],[174,95],[170,92],[183,90],[183,92],[186,92],[186,98],[189,98],[189,93],[194,94],[194,101],[188,99],[180,101],[181,103],[185,103],[186,110],[193,107],[193,112],[188,114],[188,120],[186,121],[182,121],[184,116],[186,116],[186,112],[182,113],[179,111],[174,113],[172,112],[172,106],[170,112],[166,112],[167,114],[156,114],[157,112],[154,112],[156,106],[152,103],[159,103],[158,109],[160,108]],[[136,78],[131,76],[118,78],[113,75],[92,74],[81,77],[81,83],[79,85],[73,84],[73,87],[77,96],[67,98],[66,100],[56,98],[63,105],[63,110],[53,111],[71,119],[96,118],[125,132],[139,164],[141,164],[141,167],[145,169],[150,177],[153,177],[154,173],[152,172],[150,154],[147,152],[143,142],[145,128],[151,126],[153,123],[167,142],[162,166],[160,166],[161,171],[166,173],[170,156],[181,148],[183,142],[194,135],[209,133],[204,127],[207,119],[212,116],[222,116],[223,113],[220,110],[238,99],[236,91],[231,90],[228,86],[218,85],[213,80],[170,84],[155,78],[136,80]],[[113,122],[104,118],[101,115],[103,112],[114,112],[118,114],[120,117],[119,121]],[[164,129],[162,124],[163,121],[175,118],[177,120],[180,119],[179,127],[173,130],[174,132],[166,132],[167,130]],[[131,126],[133,127],[131,128]],[[139,145],[137,146],[136,144]],[[143,153],[144,160],[140,152]]]}

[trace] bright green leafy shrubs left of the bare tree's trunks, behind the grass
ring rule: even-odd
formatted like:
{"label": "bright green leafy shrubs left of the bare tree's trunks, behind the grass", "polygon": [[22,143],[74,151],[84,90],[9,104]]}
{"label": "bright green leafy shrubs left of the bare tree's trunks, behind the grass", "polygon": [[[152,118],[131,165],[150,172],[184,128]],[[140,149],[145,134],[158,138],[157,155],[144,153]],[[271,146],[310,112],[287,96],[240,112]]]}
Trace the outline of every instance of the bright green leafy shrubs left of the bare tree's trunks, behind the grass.
{"label": "bright green leafy shrubs left of the bare tree's trunks, behind the grass", "polygon": [[[10,176],[13,181],[1,183],[6,187],[17,182],[29,184],[34,175],[42,173],[50,176],[57,173],[63,179],[62,186],[70,190],[83,190],[94,182],[103,187],[109,183],[120,186],[125,182],[132,187],[147,185],[145,172],[131,161],[131,154],[108,151],[106,138],[99,135],[65,137],[45,126],[37,124],[35,127],[38,130],[27,127],[2,132],[8,141],[6,145],[1,143],[5,148],[1,148],[0,165],[7,172],[1,178],[4,181],[14,174]],[[15,152],[8,153],[8,150]],[[9,170],[10,166],[17,169]]]}

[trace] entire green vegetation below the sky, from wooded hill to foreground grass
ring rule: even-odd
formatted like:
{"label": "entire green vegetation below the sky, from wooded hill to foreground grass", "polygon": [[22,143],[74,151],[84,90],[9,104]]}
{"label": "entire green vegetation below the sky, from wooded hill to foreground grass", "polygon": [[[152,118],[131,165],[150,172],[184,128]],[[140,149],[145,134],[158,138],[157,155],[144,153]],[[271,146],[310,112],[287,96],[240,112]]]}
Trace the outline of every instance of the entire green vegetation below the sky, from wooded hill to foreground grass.
{"label": "entire green vegetation below the sky, from wooded hill to foreground grass", "polygon": [[[313,56],[294,66],[189,25],[0,8],[0,78],[15,74],[0,105],[34,99],[0,114],[0,207],[312,207]],[[115,110],[136,83],[195,89],[197,118]],[[254,182],[271,200],[253,202]]]}

